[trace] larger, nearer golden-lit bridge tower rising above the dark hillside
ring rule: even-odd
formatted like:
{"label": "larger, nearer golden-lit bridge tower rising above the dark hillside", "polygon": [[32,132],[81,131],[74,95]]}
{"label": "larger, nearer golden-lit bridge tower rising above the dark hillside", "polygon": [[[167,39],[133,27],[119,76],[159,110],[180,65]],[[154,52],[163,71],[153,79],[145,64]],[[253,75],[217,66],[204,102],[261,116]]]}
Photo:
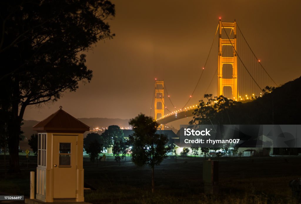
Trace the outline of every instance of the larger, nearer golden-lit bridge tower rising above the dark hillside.
{"label": "larger, nearer golden-lit bridge tower rising above the dark hillside", "polygon": [[[222,39],[222,30],[231,29],[231,32],[234,34],[234,38],[231,39],[231,36],[228,34],[226,39]],[[236,21],[234,20],[233,23],[226,23],[219,20],[219,57],[218,57],[218,96],[224,95],[223,90],[225,86],[230,86],[232,89],[232,100],[237,99],[237,54],[235,52],[236,49]],[[224,29],[225,32],[225,29]],[[230,33],[231,33],[230,32]],[[223,46],[231,46],[233,49],[233,57],[223,56],[222,47]],[[227,79],[223,78],[223,65],[224,64],[231,64],[232,65],[232,78]]]}

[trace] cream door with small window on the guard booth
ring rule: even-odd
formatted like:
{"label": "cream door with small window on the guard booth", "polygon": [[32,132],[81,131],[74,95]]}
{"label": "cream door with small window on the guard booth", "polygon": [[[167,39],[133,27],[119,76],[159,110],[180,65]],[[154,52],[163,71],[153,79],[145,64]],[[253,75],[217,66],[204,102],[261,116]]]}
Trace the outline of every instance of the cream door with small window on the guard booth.
{"label": "cream door with small window on the guard booth", "polygon": [[76,197],[77,136],[53,135],[53,198]]}

